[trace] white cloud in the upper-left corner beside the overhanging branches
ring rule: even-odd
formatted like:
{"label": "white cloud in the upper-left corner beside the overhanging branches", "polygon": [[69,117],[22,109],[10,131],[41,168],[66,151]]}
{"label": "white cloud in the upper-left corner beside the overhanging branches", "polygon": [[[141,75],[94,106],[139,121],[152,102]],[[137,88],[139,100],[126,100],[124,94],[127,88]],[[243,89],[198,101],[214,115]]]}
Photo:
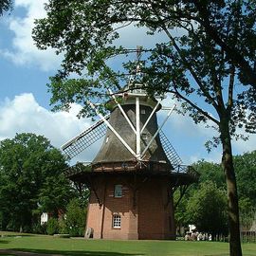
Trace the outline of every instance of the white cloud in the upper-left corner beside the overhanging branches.
{"label": "white cloud in the upper-left corner beside the overhanging branches", "polygon": [[46,0],[15,0],[14,8],[25,9],[26,15],[9,17],[9,29],[14,33],[12,48],[0,50],[0,53],[14,64],[38,65],[44,71],[56,70],[61,64],[61,56],[57,56],[50,48],[39,50],[31,37],[34,20],[46,16],[44,9],[46,2]]}

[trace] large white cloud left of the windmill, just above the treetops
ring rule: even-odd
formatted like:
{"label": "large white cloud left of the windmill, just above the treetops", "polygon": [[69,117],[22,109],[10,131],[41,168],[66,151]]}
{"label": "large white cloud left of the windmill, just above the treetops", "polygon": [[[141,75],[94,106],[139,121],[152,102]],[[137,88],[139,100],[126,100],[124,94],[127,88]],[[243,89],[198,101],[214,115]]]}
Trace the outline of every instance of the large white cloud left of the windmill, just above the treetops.
{"label": "large white cloud left of the windmill, just above the treetops", "polygon": [[[34,133],[50,139],[60,147],[91,125],[90,119],[78,119],[81,107],[73,104],[67,112],[53,113],[40,106],[32,94],[22,94],[0,104],[0,138],[12,138],[16,133]],[[96,147],[85,151],[80,160],[92,160]]]}

